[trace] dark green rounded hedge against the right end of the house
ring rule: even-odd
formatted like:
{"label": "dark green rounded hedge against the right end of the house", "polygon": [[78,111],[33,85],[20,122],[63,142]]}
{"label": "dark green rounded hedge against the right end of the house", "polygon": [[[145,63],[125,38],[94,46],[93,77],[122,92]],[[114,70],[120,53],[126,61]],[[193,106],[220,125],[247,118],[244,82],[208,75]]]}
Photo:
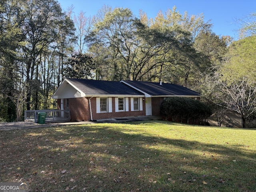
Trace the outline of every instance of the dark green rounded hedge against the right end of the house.
{"label": "dark green rounded hedge against the right end of the house", "polygon": [[198,100],[170,97],[162,102],[160,114],[170,121],[206,124],[206,120],[212,115],[212,111],[206,104]]}

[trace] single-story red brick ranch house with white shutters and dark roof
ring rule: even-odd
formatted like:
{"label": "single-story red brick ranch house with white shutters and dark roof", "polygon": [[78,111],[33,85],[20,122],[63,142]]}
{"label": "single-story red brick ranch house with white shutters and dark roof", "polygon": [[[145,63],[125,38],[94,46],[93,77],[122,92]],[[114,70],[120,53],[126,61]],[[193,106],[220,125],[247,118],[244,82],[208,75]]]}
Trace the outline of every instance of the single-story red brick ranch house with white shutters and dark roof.
{"label": "single-story red brick ranch house with white shutters and dark roof", "polygon": [[160,115],[167,97],[200,99],[200,94],[180,85],[142,81],[103,81],[65,78],[52,98],[59,110],[70,110],[71,120],[99,120]]}

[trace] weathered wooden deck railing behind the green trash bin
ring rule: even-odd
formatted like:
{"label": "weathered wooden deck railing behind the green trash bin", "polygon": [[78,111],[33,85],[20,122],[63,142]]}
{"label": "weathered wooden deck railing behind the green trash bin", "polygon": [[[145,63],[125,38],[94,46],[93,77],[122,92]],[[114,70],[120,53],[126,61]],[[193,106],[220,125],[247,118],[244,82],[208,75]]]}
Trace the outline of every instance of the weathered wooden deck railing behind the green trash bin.
{"label": "weathered wooden deck railing behind the green trash bin", "polygon": [[70,121],[70,110],[27,110],[25,121],[34,120],[38,123],[38,113],[46,112],[45,123],[62,123]]}

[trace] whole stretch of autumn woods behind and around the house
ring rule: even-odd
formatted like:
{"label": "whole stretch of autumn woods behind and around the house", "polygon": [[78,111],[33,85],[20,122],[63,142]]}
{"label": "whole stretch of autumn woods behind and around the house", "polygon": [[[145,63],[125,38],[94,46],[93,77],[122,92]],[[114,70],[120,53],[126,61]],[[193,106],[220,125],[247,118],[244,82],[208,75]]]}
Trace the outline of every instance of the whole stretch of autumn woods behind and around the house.
{"label": "whole stretch of autumn woods behind and around the house", "polygon": [[0,122],[56,108],[65,77],[180,84],[202,93],[220,124],[228,109],[244,127],[255,119],[255,13],[237,20],[238,40],[175,6],[155,18],[108,6],[87,17],[55,0],[2,0],[0,21]]}

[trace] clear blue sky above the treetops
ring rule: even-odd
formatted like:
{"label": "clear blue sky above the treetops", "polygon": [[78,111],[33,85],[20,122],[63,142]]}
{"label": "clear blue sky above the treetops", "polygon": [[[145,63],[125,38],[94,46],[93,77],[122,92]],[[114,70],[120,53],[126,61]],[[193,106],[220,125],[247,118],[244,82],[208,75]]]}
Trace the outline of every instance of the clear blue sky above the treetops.
{"label": "clear blue sky above the treetops", "polygon": [[86,16],[94,16],[104,5],[130,8],[135,16],[139,10],[154,18],[159,10],[166,12],[176,6],[177,10],[189,15],[204,14],[205,21],[211,20],[213,32],[217,35],[237,37],[236,30],[240,27],[236,19],[242,19],[256,12],[256,0],[58,0],[65,11],[71,5],[75,14],[80,11]]}

